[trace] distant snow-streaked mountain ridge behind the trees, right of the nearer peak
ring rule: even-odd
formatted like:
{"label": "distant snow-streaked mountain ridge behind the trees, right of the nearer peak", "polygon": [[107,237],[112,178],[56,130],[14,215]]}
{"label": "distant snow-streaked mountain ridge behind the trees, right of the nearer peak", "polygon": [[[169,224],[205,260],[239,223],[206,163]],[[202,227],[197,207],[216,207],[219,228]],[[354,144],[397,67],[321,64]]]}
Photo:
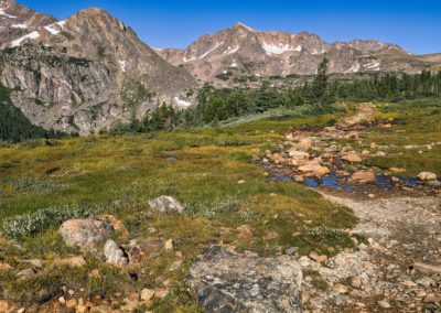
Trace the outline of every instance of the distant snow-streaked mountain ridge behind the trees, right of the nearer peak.
{"label": "distant snow-streaked mountain ridge behind the trees, right of the nearer peak", "polygon": [[185,50],[157,52],[195,77],[213,80],[222,74],[257,76],[314,74],[326,55],[331,73],[402,71],[418,73],[430,66],[395,44],[355,40],[327,44],[318,35],[301,32],[260,32],[241,23],[204,35]]}

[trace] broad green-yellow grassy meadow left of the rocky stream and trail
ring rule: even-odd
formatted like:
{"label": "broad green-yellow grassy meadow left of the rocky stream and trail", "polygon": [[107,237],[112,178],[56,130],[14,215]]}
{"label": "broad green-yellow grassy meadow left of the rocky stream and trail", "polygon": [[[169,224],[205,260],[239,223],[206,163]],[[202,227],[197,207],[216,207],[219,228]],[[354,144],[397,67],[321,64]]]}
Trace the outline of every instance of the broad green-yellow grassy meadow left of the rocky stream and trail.
{"label": "broad green-yellow grassy meadow left of the rocky stream and trail", "polygon": [[[301,185],[269,183],[265,170],[254,161],[267,149],[277,151],[289,127],[326,126],[336,119],[335,115],[266,119],[190,131],[65,139],[52,147],[0,148],[1,224],[49,208],[50,214],[62,214],[66,207],[97,207],[126,224],[130,238],[117,237],[118,241],[147,238],[149,229],[154,228],[153,236],[173,238],[175,250],[183,252],[183,266],[178,271],[166,270],[175,256],[165,251],[132,267],[140,273],[137,282],[94,256],[86,257],[85,268],[67,270],[53,260],[78,251],[63,245],[57,234],[60,222],[43,219],[36,230],[32,228],[33,236],[19,238],[24,250],[8,240],[2,242],[0,260],[13,267],[0,273],[4,282],[0,298],[44,301],[56,295],[61,284],[83,287],[106,298],[121,285],[122,293],[128,293],[159,287],[170,279],[170,295],[151,309],[198,312],[185,277],[192,260],[213,242],[230,242],[239,250],[263,256],[294,246],[304,255],[312,250],[333,255],[352,247],[352,239],[343,231],[356,223],[351,211]],[[176,161],[165,160],[168,156]],[[238,184],[241,180],[245,184]],[[159,195],[178,198],[187,213],[147,219],[147,202]],[[237,227],[244,224],[255,230],[251,240],[237,239]],[[279,238],[265,241],[269,231],[277,231]],[[45,260],[42,271],[15,283],[14,274],[23,269],[18,260],[35,258]],[[99,278],[88,278],[93,270],[98,270]]]}

